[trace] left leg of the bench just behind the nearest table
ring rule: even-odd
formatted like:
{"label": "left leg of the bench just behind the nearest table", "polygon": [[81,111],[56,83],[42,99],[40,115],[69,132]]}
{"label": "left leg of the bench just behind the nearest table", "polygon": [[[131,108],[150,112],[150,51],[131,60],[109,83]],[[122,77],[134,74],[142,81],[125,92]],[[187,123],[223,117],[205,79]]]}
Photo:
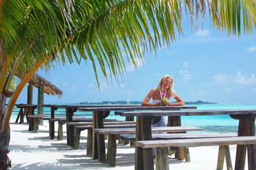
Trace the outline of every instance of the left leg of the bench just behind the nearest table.
{"label": "left leg of the bench just behind the nearest table", "polygon": [[110,167],[116,166],[117,135],[108,135],[107,161]]}

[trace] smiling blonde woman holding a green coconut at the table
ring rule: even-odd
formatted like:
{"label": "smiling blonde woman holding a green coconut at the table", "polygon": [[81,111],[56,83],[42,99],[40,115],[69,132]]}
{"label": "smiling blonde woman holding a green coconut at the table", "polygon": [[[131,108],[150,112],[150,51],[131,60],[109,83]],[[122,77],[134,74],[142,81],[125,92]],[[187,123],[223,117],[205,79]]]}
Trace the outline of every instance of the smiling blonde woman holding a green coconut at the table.
{"label": "smiling blonde woman holding a green coconut at the table", "polygon": [[[170,98],[174,97],[177,102],[169,102]],[[149,102],[150,99],[153,99],[152,103]],[[167,98],[167,104],[162,102],[163,98]],[[185,103],[177,93],[173,90],[173,78],[170,75],[163,76],[158,84],[157,88],[153,88],[148,93],[147,97],[143,100],[142,106],[183,106]],[[166,116],[162,116],[160,121],[156,124],[152,124],[151,127],[165,127],[167,124]],[[156,150],[153,148],[153,155],[155,156]]]}

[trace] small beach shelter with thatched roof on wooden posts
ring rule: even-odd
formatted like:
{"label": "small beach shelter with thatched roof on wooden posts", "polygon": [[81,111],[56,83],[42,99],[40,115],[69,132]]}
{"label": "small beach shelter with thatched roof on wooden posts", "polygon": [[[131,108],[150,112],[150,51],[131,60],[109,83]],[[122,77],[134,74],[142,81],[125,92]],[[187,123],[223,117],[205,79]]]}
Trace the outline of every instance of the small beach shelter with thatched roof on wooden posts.
{"label": "small beach shelter with thatched roof on wooden posts", "polygon": [[[28,81],[28,96],[27,96],[27,103],[32,104],[33,99],[33,86],[38,88],[38,105],[43,105],[44,93],[48,95],[58,95],[59,98],[62,96],[62,91],[44,79],[43,77],[39,76],[35,73],[31,79]],[[38,114],[43,114],[43,107],[38,107]],[[42,125],[43,121],[39,121],[39,124]]]}

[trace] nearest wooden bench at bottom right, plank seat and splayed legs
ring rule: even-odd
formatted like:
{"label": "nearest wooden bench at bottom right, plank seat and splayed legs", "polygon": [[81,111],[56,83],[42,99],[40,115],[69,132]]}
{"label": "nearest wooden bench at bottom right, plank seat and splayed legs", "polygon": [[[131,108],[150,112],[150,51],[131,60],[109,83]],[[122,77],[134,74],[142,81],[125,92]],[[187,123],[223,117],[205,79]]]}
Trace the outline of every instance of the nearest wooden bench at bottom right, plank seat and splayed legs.
{"label": "nearest wooden bench at bottom right, plank seat and splayed legs", "polygon": [[[234,137],[214,137],[214,138],[194,138],[194,139],[174,139],[174,140],[145,140],[137,141],[138,147],[157,148],[156,170],[169,170],[167,147],[199,147],[199,146],[219,146],[217,170],[223,169],[224,158],[226,158],[227,170],[232,170],[232,163],[229,145],[256,144],[256,136],[234,136]],[[248,146],[247,146],[248,147]],[[248,165],[249,167],[250,165]],[[147,167],[144,167],[147,169]]]}

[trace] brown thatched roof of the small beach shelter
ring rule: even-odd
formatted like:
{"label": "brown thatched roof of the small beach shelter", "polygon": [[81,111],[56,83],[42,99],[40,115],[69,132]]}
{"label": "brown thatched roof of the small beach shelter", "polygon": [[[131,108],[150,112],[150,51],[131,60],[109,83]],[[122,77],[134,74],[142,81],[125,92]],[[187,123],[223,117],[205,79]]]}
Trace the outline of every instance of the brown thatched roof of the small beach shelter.
{"label": "brown thatched roof of the small beach shelter", "polygon": [[39,76],[37,73],[34,73],[34,75],[31,77],[31,79],[28,81],[30,85],[33,85],[38,88],[39,84],[42,83],[44,85],[44,93],[51,94],[51,95],[58,95],[59,97],[62,96],[62,91],[50,83],[49,81],[45,80],[41,76]]}

